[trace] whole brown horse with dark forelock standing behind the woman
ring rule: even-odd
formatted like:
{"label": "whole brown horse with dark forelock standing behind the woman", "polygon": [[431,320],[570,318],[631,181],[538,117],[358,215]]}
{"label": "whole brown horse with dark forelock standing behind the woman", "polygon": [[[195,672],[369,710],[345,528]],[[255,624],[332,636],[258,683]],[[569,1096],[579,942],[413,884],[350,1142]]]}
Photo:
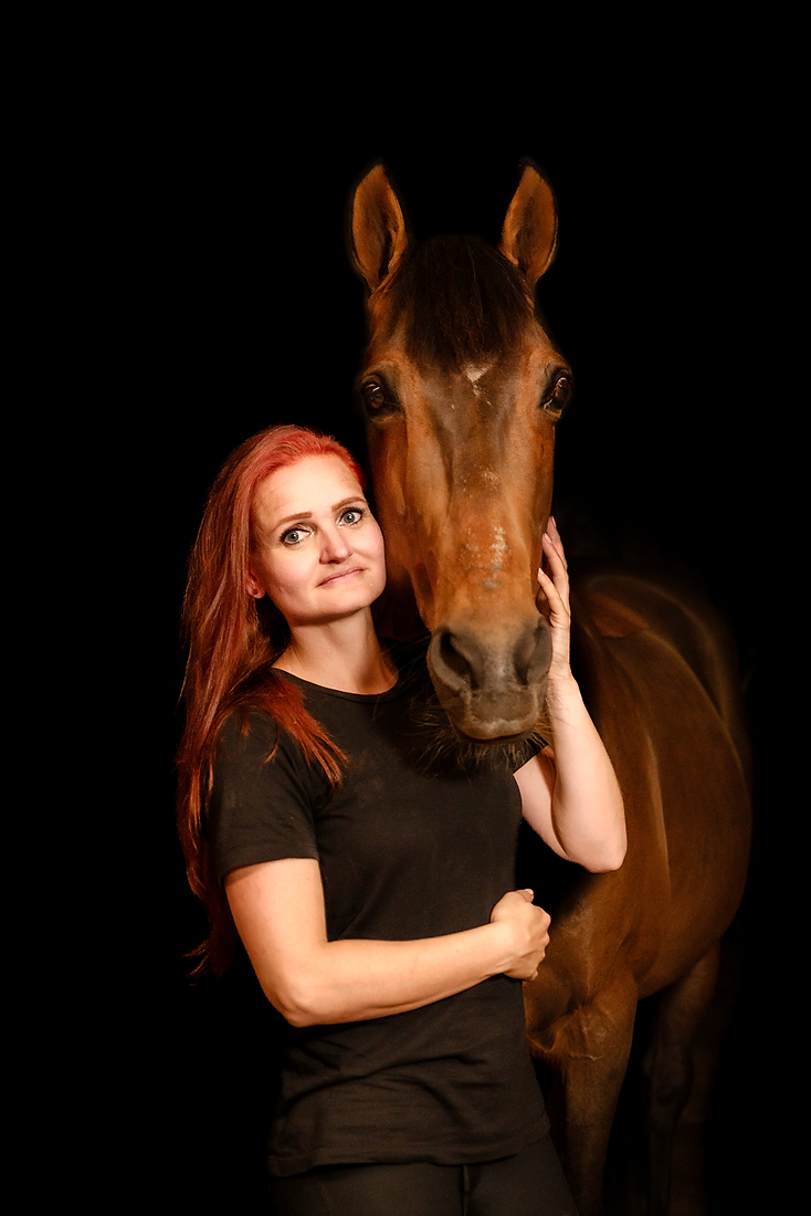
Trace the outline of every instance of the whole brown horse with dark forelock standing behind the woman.
{"label": "whole brown horse with dark forelock standing behind the woman", "polygon": [[[389,585],[413,592],[439,699],[475,741],[524,738],[544,706],[550,640],[535,572],[571,372],[534,292],[556,230],[552,190],[529,162],[500,252],[474,237],[416,244],[379,164],[351,204]],[[749,852],[736,664],[715,614],[664,582],[598,573],[571,601],[573,655],[623,788],[629,849],[619,871],[584,872],[554,910],[546,961],[525,985],[526,1029],[553,1076],[564,1167],[592,1216],[637,1001],[661,993],[649,1126],[651,1211],[664,1214],[691,1037]]]}

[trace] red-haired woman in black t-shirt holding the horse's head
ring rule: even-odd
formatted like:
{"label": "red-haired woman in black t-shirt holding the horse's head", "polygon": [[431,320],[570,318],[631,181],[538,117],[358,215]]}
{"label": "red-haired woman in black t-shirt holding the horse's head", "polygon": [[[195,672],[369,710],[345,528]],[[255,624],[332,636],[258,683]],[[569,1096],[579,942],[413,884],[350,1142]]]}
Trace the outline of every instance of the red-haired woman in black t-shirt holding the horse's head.
{"label": "red-haired woman in black t-shirt holding the horse's head", "polygon": [[495,753],[426,770],[424,658],[374,634],[383,540],[349,454],[270,428],[212,490],[186,598],[180,824],[204,958],[225,969],[236,925],[291,1025],[278,1212],[574,1212],[524,1043],[518,981],[550,918],[511,890],[517,832],[523,814],[604,871],[625,822],[569,670],[552,522],[544,553],[554,751],[514,776]]}

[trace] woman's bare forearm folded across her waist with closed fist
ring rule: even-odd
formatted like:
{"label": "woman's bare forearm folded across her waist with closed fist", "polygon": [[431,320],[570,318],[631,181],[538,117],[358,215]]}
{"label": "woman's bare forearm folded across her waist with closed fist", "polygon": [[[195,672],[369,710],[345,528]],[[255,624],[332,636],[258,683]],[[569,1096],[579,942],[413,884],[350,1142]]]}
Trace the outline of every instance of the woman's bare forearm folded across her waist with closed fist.
{"label": "woman's bare forearm folded across her waist with closed fist", "polygon": [[242,866],[225,879],[242,941],[267,1000],[294,1026],[404,1013],[505,973],[533,979],[550,917],[531,891],[508,891],[490,924],[419,941],[327,941],[317,861]]}

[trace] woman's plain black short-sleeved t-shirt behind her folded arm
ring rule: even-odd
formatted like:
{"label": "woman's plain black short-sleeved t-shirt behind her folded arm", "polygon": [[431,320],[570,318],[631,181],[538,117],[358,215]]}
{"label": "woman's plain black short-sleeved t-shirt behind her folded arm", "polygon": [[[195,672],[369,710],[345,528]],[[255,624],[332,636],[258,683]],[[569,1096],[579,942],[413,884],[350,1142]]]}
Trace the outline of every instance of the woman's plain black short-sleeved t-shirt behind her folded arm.
{"label": "woman's plain black short-sleeved t-shirt behind her folded arm", "polygon": [[[225,724],[208,807],[218,873],[312,857],[328,939],[409,941],[488,924],[514,888],[520,795],[503,761],[416,761],[412,700],[292,680],[349,758],[330,793],[261,711]],[[244,727],[247,726],[247,732]],[[524,1040],[522,985],[496,975],[387,1018],[288,1029],[272,1173],[364,1161],[494,1160],[547,1128]]]}

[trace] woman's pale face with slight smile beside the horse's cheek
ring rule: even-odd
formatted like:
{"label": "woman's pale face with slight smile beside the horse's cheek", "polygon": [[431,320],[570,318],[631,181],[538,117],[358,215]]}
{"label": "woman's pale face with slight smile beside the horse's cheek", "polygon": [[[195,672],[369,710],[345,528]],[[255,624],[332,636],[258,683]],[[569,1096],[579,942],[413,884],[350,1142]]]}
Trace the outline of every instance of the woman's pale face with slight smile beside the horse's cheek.
{"label": "woman's pale face with slight smile beside the horse's cheek", "polygon": [[383,535],[338,456],[308,456],[259,484],[248,590],[270,596],[291,629],[351,617],[384,586]]}

